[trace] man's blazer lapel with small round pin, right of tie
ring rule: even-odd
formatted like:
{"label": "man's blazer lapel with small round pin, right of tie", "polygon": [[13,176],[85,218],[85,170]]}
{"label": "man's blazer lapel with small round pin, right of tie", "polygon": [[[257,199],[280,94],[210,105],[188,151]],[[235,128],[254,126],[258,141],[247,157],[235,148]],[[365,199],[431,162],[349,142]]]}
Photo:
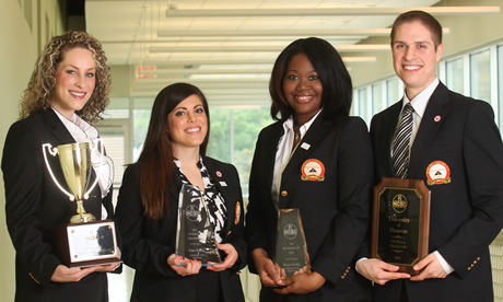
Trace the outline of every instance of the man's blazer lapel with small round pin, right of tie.
{"label": "man's blazer lapel with small round pin, right of tie", "polygon": [[[428,102],[424,116],[421,119],[418,133],[416,135],[412,149],[410,151],[409,175],[410,177],[422,178],[417,176],[419,164],[424,155],[425,150],[430,146],[438,128],[442,126],[448,111],[443,106],[448,103],[447,88],[438,83],[438,86],[433,92]],[[440,117],[440,120],[438,120]]]}

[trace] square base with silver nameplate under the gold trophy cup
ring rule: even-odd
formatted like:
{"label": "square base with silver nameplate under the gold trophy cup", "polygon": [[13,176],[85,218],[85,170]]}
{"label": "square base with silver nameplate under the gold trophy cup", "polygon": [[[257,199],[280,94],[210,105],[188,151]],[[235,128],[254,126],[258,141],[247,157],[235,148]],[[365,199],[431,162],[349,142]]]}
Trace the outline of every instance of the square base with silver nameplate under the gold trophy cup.
{"label": "square base with silver nameplate under the gold trophy cup", "polygon": [[113,220],[69,223],[56,230],[56,255],[68,267],[122,263]]}

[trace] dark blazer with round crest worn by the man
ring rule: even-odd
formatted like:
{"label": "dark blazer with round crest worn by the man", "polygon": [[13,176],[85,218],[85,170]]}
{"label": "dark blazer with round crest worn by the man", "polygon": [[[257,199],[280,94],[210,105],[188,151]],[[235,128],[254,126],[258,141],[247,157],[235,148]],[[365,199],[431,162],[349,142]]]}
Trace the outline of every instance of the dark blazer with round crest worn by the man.
{"label": "dark blazer with round crest worn by the man", "polygon": [[[371,124],[376,183],[395,177],[390,146],[401,106]],[[428,183],[434,162],[447,167],[448,183]],[[376,301],[398,301],[402,282],[411,302],[493,301],[488,246],[503,226],[503,144],[491,106],[440,83],[412,144],[408,177],[423,179],[431,190],[429,253],[438,251],[455,271],[445,279],[376,284]]]}

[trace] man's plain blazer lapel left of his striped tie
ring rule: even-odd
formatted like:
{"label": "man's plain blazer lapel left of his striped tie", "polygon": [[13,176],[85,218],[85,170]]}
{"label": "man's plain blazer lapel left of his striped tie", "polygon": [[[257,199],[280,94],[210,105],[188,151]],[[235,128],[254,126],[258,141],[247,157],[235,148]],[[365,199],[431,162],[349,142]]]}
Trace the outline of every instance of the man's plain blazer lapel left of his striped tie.
{"label": "man's plain blazer lapel left of his striped tie", "polygon": [[376,150],[381,150],[378,154],[381,155],[381,161],[383,161],[383,166],[386,169],[386,175],[395,175],[395,169],[393,167],[391,162],[391,141],[393,136],[395,135],[395,128],[398,124],[398,117],[401,113],[402,100],[395,103],[389,107],[388,116],[384,119],[383,127],[381,128],[381,133],[376,133],[376,137],[381,138],[374,143],[378,143]]}

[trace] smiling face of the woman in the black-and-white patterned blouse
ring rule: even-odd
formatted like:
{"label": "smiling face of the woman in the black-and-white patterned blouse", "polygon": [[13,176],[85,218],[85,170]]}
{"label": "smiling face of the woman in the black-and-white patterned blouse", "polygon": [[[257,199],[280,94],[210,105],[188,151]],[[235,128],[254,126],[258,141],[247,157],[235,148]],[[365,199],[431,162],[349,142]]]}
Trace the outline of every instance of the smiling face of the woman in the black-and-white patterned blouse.
{"label": "smiling face of the woman in the black-and-white patterned blouse", "polygon": [[174,150],[199,148],[208,132],[207,112],[199,96],[192,94],[182,101],[168,115],[168,133]]}

